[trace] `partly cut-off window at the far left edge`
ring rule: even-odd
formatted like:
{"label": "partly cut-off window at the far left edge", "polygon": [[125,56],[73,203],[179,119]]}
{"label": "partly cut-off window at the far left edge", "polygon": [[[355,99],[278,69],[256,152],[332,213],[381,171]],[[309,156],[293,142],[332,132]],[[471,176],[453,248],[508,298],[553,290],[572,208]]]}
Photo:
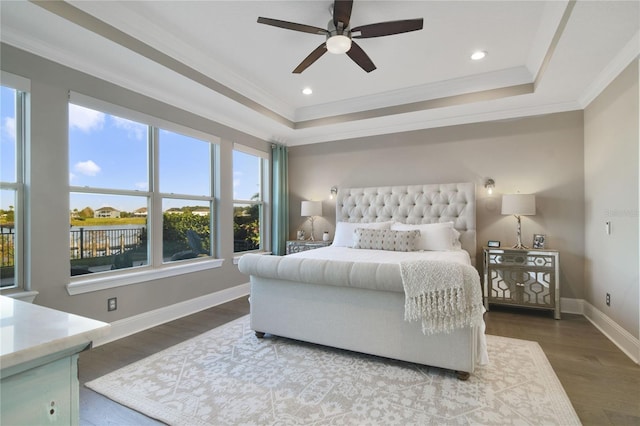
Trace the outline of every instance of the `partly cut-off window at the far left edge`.
{"label": "partly cut-off window at the far left edge", "polygon": [[[3,81],[7,75],[3,73]],[[27,93],[0,86],[0,288],[23,288],[23,150]]]}

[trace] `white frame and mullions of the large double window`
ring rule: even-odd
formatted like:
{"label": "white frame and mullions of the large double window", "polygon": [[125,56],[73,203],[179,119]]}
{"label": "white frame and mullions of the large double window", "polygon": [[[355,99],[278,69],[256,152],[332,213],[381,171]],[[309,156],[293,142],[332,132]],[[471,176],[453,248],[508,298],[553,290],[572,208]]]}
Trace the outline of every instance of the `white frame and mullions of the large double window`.
{"label": "white frame and mullions of the large double window", "polygon": [[[79,275],[69,277],[69,284],[67,285],[67,291],[69,294],[81,294],[91,291],[98,291],[107,288],[113,288],[123,285],[130,285],[140,282],[146,282],[156,280],[159,278],[172,277],[184,273],[219,268],[222,266],[223,259],[216,258],[217,250],[216,236],[218,233],[219,224],[216,223],[217,215],[217,194],[216,194],[216,176],[219,173],[217,170],[217,156],[219,153],[220,138],[206,134],[204,132],[190,129],[188,127],[172,123],[166,120],[162,120],[144,113],[140,113],[134,110],[130,110],[125,107],[111,104],[106,101],[101,101],[95,98],[91,98],[86,95],[82,95],[75,92],[69,93],[68,104],[75,104],[85,108],[91,108],[100,111],[105,114],[114,115],[127,120],[135,121],[137,123],[147,126],[147,146],[148,146],[148,183],[149,187],[147,191],[141,190],[120,190],[120,189],[105,189],[98,187],[86,187],[86,186],[69,186],[69,195],[71,193],[88,193],[88,194],[108,194],[108,195],[125,195],[125,196],[138,196],[147,198],[147,235],[149,236],[149,243],[147,247],[148,256],[147,264],[133,267],[124,268],[114,271],[106,271],[104,273],[97,274],[97,276]],[[194,196],[185,194],[174,193],[161,193],[159,192],[159,133],[161,130],[178,133],[187,137],[202,140],[210,144],[210,193],[208,196]],[[69,142],[67,142],[69,143]],[[162,212],[162,200],[163,199],[187,199],[209,202],[211,208],[210,214],[210,254],[205,258],[189,259],[165,262],[162,256],[163,246],[163,212]]]}

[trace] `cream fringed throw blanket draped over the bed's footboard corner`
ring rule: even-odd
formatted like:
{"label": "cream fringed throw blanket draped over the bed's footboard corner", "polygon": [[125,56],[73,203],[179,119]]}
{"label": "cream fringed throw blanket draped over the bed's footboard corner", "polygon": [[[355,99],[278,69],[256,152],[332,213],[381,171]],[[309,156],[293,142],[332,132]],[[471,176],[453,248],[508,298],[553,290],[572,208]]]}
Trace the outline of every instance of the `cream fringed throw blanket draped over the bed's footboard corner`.
{"label": "cream fringed throw blanket draped over the bed's footboard corner", "polygon": [[422,321],[425,335],[482,323],[480,276],[472,266],[416,260],[400,263],[405,321]]}

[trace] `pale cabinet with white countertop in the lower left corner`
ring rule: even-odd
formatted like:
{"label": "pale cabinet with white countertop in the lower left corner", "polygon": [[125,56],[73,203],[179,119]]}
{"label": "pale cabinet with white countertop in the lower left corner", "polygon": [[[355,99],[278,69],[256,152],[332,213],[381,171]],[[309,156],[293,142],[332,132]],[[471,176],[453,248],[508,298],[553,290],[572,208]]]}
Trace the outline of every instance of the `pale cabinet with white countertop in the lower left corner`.
{"label": "pale cabinet with white countertop in the lower left corner", "polygon": [[78,354],[109,324],[6,296],[0,312],[0,424],[79,424]]}

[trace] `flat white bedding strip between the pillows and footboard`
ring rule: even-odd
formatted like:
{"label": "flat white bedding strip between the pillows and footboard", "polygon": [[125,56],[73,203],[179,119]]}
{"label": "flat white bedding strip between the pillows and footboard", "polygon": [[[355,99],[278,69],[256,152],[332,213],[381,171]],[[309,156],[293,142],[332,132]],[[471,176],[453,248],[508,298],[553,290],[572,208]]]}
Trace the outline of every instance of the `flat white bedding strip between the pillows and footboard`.
{"label": "flat white bedding strip between the pillows and footboard", "polygon": [[451,251],[387,251],[364,250],[350,247],[322,247],[315,250],[307,250],[288,257],[300,257],[304,259],[342,260],[349,262],[375,262],[397,263],[409,260],[440,260],[457,262],[463,265],[471,265],[469,253],[465,250]]}

